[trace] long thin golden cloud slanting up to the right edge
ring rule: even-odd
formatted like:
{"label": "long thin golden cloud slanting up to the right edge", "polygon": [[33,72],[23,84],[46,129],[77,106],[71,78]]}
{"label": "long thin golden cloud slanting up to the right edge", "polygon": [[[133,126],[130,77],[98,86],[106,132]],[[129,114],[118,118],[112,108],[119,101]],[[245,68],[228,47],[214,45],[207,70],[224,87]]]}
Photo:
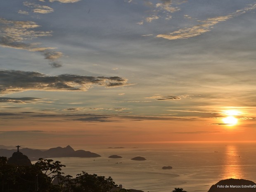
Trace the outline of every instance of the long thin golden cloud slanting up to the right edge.
{"label": "long thin golden cloud slanting up to the right edge", "polygon": [[198,21],[200,24],[196,26],[192,26],[190,28],[182,28],[178,31],[174,31],[169,34],[159,34],[156,37],[158,38],[165,38],[168,40],[175,40],[175,39],[187,39],[195,36],[199,36],[203,33],[206,33],[208,31],[211,31],[211,28],[222,21],[227,21],[228,19],[231,19],[233,17],[237,17],[241,14],[246,13],[247,11],[256,9],[256,4],[249,5],[248,7],[245,7],[244,9],[239,9],[235,12],[232,12],[231,14],[225,15],[225,16],[219,16],[219,17],[213,17],[209,18],[203,21]]}

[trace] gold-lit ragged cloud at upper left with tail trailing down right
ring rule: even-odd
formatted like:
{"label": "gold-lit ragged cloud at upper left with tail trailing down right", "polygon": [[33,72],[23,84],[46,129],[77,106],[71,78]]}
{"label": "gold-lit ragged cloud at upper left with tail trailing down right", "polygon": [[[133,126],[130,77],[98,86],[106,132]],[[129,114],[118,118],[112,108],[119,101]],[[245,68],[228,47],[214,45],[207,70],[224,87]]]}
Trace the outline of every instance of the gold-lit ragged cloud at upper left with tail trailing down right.
{"label": "gold-lit ragged cloud at upper left with tail trailing down right", "polygon": [[40,43],[24,43],[28,40],[43,36],[52,36],[52,31],[36,31],[40,27],[33,21],[14,21],[0,18],[0,45],[28,51],[40,52],[53,67],[61,64],[56,61],[62,56],[61,52],[53,51],[55,47],[40,47]]}

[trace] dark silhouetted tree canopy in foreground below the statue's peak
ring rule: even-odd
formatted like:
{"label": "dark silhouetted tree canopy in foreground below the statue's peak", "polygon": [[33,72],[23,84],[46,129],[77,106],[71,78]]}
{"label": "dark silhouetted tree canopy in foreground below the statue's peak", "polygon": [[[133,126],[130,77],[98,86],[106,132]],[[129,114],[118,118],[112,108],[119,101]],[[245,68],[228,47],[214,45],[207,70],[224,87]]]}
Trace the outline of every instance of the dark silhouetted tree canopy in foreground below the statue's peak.
{"label": "dark silhouetted tree canopy in foreground below the statue's peak", "polygon": [[[36,164],[18,166],[7,164],[0,157],[0,192],[108,192],[116,187],[111,177],[82,172],[72,178],[64,176],[65,165],[52,159],[39,159]],[[57,185],[52,180],[57,179]]]}

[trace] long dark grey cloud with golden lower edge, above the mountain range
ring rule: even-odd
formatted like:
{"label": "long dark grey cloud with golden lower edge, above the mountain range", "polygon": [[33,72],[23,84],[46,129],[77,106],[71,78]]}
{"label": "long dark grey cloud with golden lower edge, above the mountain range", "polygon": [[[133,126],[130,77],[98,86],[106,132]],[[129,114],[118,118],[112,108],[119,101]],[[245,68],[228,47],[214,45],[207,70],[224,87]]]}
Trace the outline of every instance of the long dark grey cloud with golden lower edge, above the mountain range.
{"label": "long dark grey cloud with golden lower edge, above the mountain range", "polygon": [[121,77],[78,76],[71,74],[47,76],[34,71],[0,71],[0,93],[26,90],[86,91],[93,85],[112,88],[129,84],[126,78]]}

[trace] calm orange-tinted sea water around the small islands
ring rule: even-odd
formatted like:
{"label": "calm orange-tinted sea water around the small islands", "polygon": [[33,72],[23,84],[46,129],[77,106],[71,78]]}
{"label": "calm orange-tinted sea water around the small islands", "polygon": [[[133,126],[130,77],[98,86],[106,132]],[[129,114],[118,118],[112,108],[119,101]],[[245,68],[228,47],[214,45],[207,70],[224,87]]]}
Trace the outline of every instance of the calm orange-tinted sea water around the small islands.
{"label": "calm orange-tinted sea water around the small islands", "polygon": [[[76,176],[81,171],[111,176],[126,189],[171,192],[175,187],[188,192],[207,192],[227,178],[256,182],[256,143],[167,143],[154,145],[83,147],[100,154],[97,158],[56,158],[66,165],[62,171]],[[138,148],[133,148],[138,147]],[[122,159],[110,159],[120,155]],[[130,160],[135,156],[145,161]],[[117,164],[118,163],[118,164]],[[164,170],[163,166],[173,169]]]}

